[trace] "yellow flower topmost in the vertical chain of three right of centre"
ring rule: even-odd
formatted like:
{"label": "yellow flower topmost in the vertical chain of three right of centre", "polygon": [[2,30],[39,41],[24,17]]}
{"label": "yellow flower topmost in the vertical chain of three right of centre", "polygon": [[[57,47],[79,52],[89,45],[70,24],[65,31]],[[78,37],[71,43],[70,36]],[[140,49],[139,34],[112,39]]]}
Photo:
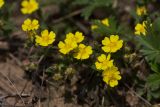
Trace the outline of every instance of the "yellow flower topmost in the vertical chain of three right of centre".
{"label": "yellow flower topmost in the vertical chain of three right of centre", "polygon": [[105,37],[104,40],[102,40],[102,44],[104,45],[102,47],[104,52],[116,52],[122,48],[123,40],[119,40],[118,35],[111,35],[110,38]]}

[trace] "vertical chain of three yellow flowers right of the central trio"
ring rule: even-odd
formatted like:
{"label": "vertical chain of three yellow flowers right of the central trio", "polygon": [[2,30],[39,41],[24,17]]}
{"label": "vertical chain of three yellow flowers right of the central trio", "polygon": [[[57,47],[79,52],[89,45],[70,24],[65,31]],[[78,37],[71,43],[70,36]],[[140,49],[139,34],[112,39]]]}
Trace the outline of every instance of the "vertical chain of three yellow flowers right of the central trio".
{"label": "vertical chain of three yellow flowers right of the central trio", "polygon": [[108,53],[108,55],[101,54],[97,58],[95,66],[98,70],[103,70],[103,81],[110,87],[115,87],[118,85],[118,80],[121,79],[121,76],[118,68],[113,64],[111,53],[117,52],[122,48],[123,40],[119,40],[118,35],[111,35],[110,38],[105,37],[104,40],[102,40],[102,44],[104,45],[102,46],[102,50]]}

